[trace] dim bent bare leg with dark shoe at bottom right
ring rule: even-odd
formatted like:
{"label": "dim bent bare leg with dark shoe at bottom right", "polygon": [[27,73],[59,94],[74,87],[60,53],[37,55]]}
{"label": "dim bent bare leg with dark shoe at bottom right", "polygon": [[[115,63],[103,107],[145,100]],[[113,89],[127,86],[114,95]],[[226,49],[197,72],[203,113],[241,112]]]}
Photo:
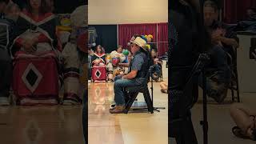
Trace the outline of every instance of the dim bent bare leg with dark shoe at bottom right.
{"label": "dim bent bare leg with dark shoe at bottom right", "polygon": [[230,115],[237,124],[232,129],[233,134],[238,138],[249,138],[256,141],[256,110],[236,103],[231,106]]}

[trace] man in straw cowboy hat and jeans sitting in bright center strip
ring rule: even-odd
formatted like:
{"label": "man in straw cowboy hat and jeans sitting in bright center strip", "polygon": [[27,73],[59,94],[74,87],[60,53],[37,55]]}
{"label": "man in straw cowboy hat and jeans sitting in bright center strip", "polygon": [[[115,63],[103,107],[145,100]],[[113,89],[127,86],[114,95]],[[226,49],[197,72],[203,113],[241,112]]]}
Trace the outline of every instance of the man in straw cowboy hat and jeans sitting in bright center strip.
{"label": "man in straw cowboy hat and jeans sitting in bright center strip", "polygon": [[130,40],[130,49],[134,58],[130,62],[130,72],[121,74],[115,78],[114,82],[114,101],[116,106],[110,109],[111,114],[120,114],[125,109],[126,87],[142,86],[146,81],[146,73],[149,69],[149,52],[146,50],[146,41],[141,37]]}

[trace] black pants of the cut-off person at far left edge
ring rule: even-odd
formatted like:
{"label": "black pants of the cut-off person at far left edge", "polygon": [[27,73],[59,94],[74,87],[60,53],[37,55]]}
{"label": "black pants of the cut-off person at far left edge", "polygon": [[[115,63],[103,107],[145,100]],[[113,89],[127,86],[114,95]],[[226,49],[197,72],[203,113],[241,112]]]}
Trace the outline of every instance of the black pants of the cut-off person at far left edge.
{"label": "black pants of the cut-off person at far left edge", "polygon": [[0,97],[9,97],[12,80],[12,63],[10,60],[0,59]]}

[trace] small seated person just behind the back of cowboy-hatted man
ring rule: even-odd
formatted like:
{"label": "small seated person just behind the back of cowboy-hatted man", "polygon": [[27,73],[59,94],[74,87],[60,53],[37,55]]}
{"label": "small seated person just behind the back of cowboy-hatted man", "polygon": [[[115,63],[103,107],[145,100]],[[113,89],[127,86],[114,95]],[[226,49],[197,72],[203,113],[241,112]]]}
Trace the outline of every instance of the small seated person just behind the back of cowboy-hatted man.
{"label": "small seated person just behind the back of cowboy-hatted man", "polygon": [[151,57],[153,58],[152,66],[154,66],[153,74],[151,78],[158,79],[162,72],[162,60],[158,58],[158,51],[156,49],[151,50]]}

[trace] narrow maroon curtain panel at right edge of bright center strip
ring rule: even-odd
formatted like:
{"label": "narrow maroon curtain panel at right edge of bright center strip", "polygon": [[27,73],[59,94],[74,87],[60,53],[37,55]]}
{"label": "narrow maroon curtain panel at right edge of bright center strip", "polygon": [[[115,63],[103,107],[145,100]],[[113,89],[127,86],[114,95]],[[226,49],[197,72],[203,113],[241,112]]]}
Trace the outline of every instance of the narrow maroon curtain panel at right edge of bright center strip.
{"label": "narrow maroon curtain panel at right edge of bright center strip", "polygon": [[168,51],[168,23],[158,23],[158,55]]}

